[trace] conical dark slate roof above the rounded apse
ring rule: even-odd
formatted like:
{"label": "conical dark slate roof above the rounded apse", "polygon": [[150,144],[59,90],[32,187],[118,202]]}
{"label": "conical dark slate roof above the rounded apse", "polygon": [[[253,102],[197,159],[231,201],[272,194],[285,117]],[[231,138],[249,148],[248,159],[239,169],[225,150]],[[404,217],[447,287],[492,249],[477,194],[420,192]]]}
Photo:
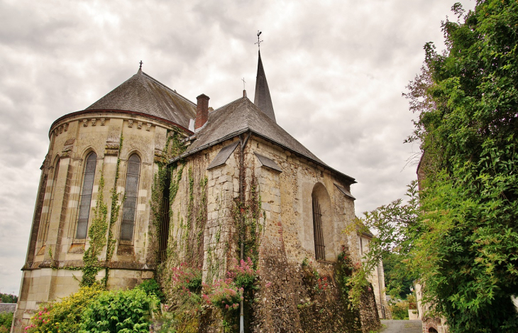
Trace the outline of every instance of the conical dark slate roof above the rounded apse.
{"label": "conical dark slate roof above the rounded apse", "polygon": [[119,87],[85,110],[111,109],[136,111],[172,121],[185,128],[196,118],[196,104],[138,70]]}

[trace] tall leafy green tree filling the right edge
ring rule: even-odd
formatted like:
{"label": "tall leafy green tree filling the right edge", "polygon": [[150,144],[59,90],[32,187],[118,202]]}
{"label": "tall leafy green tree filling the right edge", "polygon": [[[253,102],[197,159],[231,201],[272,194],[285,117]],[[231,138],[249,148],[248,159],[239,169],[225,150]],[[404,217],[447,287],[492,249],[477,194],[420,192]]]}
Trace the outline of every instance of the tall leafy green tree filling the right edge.
{"label": "tall leafy green tree filling the right edge", "polygon": [[[518,1],[452,10],[446,51],[426,43],[407,87],[418,116],[407,141],[424,152],[419,207],[404,222],[405,204],[395,202],[363,224],[380,228],[375,249],[406,251],[451,332],[518,332]],[[394,228],[399,238],[385,231]]]}

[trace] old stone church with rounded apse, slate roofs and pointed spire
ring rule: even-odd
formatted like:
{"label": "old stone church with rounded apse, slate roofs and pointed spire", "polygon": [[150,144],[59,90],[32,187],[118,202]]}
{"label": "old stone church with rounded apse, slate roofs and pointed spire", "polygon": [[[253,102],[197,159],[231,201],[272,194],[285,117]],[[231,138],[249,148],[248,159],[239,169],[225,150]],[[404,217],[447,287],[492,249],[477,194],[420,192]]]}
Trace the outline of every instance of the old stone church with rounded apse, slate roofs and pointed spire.
{"label": "old stone church with rounded apse, slate roofs and pointed spire", "polygon": [[[246,332],[379,326],[381,266],[359,310],[348,309],[343,291],[368,250],[365,235],[343,233],[355,219],[356,181],[277,124],[260,53],[253,102],[243,91],[209,104],[140,67],[91,106],[54,121],[13,332],[23,332],[40,302],[77,292],[87,278],[109,289],[149,278],[165,287],[172,267],[187,263],[209,282],[248,257],[259,277]],[[96,262],[90,277],[85,258]],[[329,281],[324,291],[319,278]],[[214,318],[204,325],[199,332],[218,332]]]}

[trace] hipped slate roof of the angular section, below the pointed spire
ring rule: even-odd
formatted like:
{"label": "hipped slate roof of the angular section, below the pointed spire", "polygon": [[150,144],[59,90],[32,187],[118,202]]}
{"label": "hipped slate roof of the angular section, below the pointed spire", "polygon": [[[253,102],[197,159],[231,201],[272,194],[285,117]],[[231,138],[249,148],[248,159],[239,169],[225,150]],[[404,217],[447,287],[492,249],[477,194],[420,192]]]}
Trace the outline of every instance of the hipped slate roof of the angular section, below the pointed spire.
{"label": "hipped slate roof of the angular section, below the pointed spire", "polygon": [[[187,155],[202,151],[205,148],[214,146],[216,143],[233,138],[241,133],[251,131],[257,136],[261,136],[266,140],[276,143],[279,146],[304,156],[308,160],[312,160],[319,165],[334,170],[322,162],[311,151],[299,143],[293,136],[290,136],[287,131],[277,125],[275,121],[270,119],[263,113],[255,104],[253,104],[247,97],[236,99],[235,101],[226,104],[209,113],[209,120],[206,125],[196,133],[196,139],[187,148],[187,151],[177,158],[173,158],[170,162],[184,158]],[[340,173],[336,171],[337,173]],[[348,175],[345,176],[351,182],[354,178]]]}

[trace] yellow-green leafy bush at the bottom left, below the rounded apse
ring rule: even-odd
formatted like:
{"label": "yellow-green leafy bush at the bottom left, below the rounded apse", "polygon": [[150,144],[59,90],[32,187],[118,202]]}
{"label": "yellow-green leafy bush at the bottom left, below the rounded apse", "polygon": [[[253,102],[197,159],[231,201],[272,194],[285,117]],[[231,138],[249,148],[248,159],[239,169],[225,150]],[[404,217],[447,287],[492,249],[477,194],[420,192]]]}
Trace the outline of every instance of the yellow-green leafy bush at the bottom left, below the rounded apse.
{"label": "yellow-green leafy bush at the bottom left, below the rounded apse", "polygon": [[96,283],[90,287],[82,287],[77,293],[63,298],[60,302],[40,304],[38,312],[31,318],[31,324],[26,327],[26,332],[79,331],[82,312],[102,291],[103,288]]}

